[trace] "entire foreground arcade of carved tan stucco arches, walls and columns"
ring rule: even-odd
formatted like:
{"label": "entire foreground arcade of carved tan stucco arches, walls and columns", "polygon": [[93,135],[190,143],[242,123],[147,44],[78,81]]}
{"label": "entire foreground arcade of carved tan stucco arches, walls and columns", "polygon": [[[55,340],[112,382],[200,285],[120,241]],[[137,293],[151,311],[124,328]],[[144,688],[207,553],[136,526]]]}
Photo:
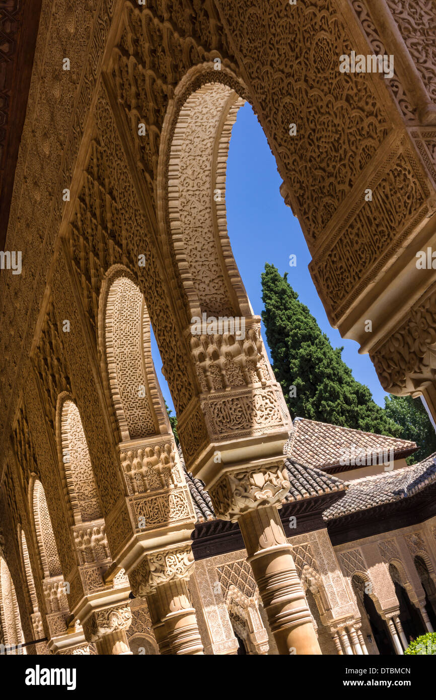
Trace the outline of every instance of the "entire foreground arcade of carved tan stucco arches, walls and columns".
{"label": "entire foreground arcade of carved tan stucco arches, walls and columns", "polygon": [[[150,319],[186,466],[239,522],[279,653],[320,653],[277,510],[290,416],[232,256],[225,162],[248,100],[330,321],[386,389],[431,404],[435,272],[414,253],[434,236],[435,17],[400,5],[43,0],[6,236],[23,269],[0,277],[0,503],[11,575],[20,526],[52,649],[129,653],[132,590],[161,652],[202,653],[195,513]],[[373,45],[395,55],[391,80],[338,71]],[[203,314],[243,321],[243,337],[197,335]]]}

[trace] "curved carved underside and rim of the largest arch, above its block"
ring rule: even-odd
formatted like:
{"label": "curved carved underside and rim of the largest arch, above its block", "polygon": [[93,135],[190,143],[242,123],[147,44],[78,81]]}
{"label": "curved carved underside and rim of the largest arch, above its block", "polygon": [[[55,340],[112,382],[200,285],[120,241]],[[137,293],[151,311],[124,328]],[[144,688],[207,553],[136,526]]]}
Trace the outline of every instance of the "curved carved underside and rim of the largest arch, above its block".
{"label": "curved carved underside and rim of the largest arch, above its block", "polygon": [[174,91],[160,142],[162,244],[183,289],[186,321],[202,312],[252,316],[227,235],[225,171],[246,87],[224,66],[195,66]]}

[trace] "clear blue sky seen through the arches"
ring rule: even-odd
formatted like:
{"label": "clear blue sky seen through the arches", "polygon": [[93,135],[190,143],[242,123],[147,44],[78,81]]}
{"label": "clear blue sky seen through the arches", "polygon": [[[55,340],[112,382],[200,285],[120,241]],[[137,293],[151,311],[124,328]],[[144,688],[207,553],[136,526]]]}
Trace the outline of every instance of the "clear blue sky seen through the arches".
{"label": "clear blue sky seen through the arches", "polygon": [[[280,274],[288,272],[288,281],[328,335],[332,346],[344,346],[342,359],[351,367],[354,377],[369,386],[374,401],[384,406],[386,394],[370,357],[359,355],[358,344],[342,339],[339,331],[328,322],[307,269],[311,260],[309,249],[297,218],[283,202],[280,186],[281,177],[267,138],[251,106],[246,104],[239,109],[232,130],[227,161],[226,204],[227,228],[234,258],[254,312],[260,316],[262,311],[260,274],[265,262],[271,262]],[[297,255],[296,267],[289,267],[291,254]],[[266,344],[265,329],[262,332]],[[174,412],[167,383],[160,372],[162,361],[154,338],[152,352],[164,398]]]}

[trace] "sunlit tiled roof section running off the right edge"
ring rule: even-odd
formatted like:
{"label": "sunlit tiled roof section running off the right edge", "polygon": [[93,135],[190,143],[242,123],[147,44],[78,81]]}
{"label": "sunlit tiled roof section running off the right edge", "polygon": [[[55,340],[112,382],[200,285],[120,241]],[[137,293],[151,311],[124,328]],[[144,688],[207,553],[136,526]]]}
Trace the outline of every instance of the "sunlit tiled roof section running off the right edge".
{"label": "sunlit tiled roof section running off the right edge", "polygon": [[410,498],[428,484],[436,483],[436,452],[418,464],[383,472],[349,484],[345,496],[325,510],[325,520],[333,520],[377,505]]}

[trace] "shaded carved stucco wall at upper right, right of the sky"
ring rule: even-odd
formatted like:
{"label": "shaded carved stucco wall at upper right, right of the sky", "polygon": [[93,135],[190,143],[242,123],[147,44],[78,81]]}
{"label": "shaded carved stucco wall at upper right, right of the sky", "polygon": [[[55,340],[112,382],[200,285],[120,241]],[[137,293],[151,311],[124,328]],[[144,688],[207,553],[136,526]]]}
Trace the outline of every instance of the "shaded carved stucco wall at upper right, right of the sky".
{"label": "shaded carved stucco wall at upper right, right of the sky", "polygon": [[[433,41],[412,38],[430,36],[435,8],[408,0],[216,5],[330,323],[370,352],[385,391],[424,391],[435,416],[428,290],[434,302],[436,273],[423,279],[414,254],[434,248],[436,80]],[[269,33],[274,41],[265,42]],[[340,73],[339,57],[352,51],[393,57],[392,75]]]}

